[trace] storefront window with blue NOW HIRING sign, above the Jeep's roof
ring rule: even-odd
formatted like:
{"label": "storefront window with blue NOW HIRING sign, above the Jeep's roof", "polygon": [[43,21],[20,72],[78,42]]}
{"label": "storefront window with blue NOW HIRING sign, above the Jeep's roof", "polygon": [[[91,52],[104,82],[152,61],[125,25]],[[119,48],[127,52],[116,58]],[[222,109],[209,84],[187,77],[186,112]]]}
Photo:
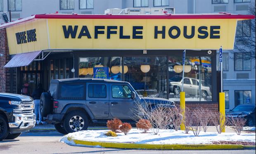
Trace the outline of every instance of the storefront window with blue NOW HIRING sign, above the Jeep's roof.
{"label": "storefront window with blue NOW HIRING sign, above the Jeep's roof", "polygon": [[[121,57],[80,57],[79,78],[106,78],[122,80]],[[124,67],[124,73],[127,67]]]}

